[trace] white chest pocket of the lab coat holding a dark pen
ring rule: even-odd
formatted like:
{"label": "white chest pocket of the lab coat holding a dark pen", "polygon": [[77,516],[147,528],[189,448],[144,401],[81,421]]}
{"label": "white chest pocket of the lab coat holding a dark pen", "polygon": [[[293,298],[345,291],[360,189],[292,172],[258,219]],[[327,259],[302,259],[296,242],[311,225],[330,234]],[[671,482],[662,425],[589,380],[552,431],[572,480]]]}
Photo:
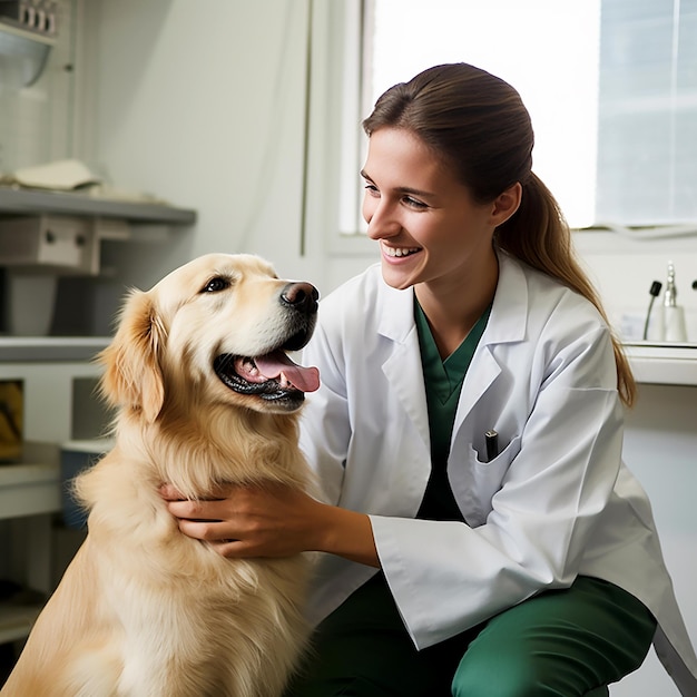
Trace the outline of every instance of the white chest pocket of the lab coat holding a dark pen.
{"label": "white chest pocket of the lab coat holding a dark pen", "polygon": [[519,452],[520,435],[514,436],[490,462],[482,462],[477,450],[470,445],[462,497],[465,502],[462,513],[470,527],[475,528],[487,521],[492,510],[491,499],[503,485],[505,473]]}

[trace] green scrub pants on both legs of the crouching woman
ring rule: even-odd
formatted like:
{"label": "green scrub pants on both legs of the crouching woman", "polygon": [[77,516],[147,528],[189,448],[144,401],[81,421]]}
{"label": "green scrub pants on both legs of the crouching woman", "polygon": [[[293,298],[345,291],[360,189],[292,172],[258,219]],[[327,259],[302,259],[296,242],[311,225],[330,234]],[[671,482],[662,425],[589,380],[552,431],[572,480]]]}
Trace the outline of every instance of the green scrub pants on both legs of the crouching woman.
{"label": "green scrub pants on both legs of the crouching woman", "polygon": [[634,596],[580,577],[418,651],[377,573],[317,627],[285,697],[599,697],[655,630]]}

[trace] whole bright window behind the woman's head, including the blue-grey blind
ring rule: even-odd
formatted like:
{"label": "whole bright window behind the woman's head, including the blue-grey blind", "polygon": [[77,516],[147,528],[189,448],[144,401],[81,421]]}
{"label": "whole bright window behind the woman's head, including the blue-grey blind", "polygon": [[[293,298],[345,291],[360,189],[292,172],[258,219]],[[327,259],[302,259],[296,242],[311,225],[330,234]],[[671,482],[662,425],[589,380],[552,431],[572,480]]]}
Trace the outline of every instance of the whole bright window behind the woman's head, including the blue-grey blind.
{"label": "whole bright window behind the woman's head, including the blue-grey blind", "polygon": [[[355,6],[361,117],[391,85],[439,62],[470,62],[520,92],[536,131],[533,169],[572,226],[697,218],[697,0]],[[365,145],[352,132],[342,157],[340,227],[348,234],[360,229],[356,141]]]}

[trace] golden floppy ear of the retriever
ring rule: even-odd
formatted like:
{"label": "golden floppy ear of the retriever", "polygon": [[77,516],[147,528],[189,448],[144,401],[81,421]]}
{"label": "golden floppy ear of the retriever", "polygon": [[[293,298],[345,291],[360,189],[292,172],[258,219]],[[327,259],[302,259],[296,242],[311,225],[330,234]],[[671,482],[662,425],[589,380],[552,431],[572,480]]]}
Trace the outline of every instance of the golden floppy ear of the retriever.
{"label": "golden floppy ear of the retriever", "polygon": [[131,291],[114,341],[97,356],[105,366],[100,391],[109,404],[141,411],[150,423],[157,419],[165,400],[159,362],[165,340],[153,300]]}

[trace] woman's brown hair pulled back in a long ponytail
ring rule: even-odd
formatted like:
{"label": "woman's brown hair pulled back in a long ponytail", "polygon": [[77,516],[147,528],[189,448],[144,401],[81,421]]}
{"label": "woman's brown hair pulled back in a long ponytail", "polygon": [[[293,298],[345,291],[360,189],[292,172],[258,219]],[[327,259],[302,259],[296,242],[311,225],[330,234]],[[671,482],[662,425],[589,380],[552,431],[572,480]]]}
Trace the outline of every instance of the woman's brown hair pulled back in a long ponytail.
{"label": "woman's brown hair pulled back in a long ponytail", "polygon": [[[468,63],[429,68],[377,99],[363,128],[370,137],[383,127],[416,135],[479,203],[494,200],[520,181],[520,207],[497,228],[494,244],[588,298],[608,322],[597,291],[576,258],[557,200],[532,173],[530,115],[508,82]],[[630,406],[635,380],[615,334],[612,345],[619,394]]]}

